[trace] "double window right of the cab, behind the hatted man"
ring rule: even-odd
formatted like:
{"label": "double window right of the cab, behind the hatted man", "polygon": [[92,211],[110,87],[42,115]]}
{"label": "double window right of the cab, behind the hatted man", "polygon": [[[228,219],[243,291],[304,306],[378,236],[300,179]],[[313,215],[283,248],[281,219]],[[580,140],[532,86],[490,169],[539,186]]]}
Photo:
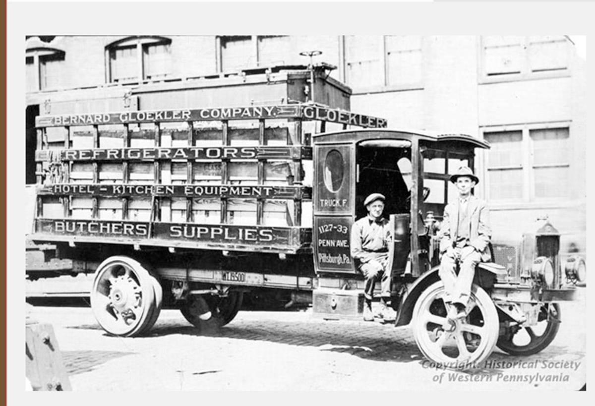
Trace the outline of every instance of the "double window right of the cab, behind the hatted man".
{"label": "double window right of the cab, behind the hatted man", "polygon": [[484,130],[490,201],[543,201],[568,197],[569,127],[522,126]]}

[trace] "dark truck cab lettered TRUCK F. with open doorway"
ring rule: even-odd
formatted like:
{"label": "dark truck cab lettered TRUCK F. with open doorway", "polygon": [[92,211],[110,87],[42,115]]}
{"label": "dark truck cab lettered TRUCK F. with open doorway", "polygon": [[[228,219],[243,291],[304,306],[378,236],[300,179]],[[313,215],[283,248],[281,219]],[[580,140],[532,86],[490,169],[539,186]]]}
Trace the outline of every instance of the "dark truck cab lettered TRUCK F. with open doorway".
{"label": "dark truck cab lettered TRUCK F. with open doorway", "polygon": [[475,148],[488,144],[468,135],[384,129],[315,135],[313,248],[322,285],[359,286],[349,236],[353,223],[367,215],[363,202],[370,193],[386,196],[393,279],[416,278],[439,263],[436,227],[425,218],[441,218],[456,197],[449,171],[472,166]]}

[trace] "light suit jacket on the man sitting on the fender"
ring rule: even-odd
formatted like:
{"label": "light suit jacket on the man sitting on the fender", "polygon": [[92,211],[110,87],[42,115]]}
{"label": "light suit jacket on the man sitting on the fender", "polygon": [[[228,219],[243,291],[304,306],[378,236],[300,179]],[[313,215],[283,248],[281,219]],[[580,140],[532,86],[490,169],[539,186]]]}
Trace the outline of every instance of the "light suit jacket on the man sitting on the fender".
{"label": "light suit jacket on the man sitting on the fender", "polygon": [[[488,262],[491,260],[490,242],[490,211],[486,202],[473,195],[469,196],[467,202],[469,214],[469,244],[474,246],[481,254],[481,260]],[[456,202],[447,204],[444,208],[444,217],[440,229],[440,253],[445,252],[449,246],[452,246],[455,238],[458,224],[459,199]]]}

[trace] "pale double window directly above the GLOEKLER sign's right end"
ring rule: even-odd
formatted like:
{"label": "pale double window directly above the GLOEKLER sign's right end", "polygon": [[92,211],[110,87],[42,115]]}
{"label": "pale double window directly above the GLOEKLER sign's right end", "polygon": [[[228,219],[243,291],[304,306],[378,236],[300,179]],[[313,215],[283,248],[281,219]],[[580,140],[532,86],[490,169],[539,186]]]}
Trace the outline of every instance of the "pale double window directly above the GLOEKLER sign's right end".
{"label": "pale double window directly above the GLOEKLER sign's right end", "polygon": [[345,79],[352,88],[420,88],[422,36],[345,36]]}

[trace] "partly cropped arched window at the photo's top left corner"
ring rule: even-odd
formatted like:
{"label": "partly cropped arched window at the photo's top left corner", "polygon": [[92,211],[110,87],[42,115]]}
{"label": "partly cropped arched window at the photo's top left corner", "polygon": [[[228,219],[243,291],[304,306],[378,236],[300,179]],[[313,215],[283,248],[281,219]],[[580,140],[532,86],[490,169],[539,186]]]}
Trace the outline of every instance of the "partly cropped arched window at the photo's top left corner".
{"label": "partly cropped arched window at the photo's top left corner", "polygon": [[25,68],[27,92],[57,89],[62,86],[61,71],[66,53],[53,42],[42,42],[37,37],[27,39]]}

